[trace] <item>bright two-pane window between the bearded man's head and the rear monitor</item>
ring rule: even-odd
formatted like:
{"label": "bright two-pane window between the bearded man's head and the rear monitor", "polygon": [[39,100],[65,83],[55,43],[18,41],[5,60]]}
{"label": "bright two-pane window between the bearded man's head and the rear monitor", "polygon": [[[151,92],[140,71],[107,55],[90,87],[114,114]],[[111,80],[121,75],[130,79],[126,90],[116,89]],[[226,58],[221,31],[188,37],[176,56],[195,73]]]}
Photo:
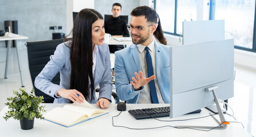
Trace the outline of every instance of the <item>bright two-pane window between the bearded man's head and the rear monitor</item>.
{"label": "bright two-pane window between the bearded man's head and the rear monitor", "polygon": [[181,35],[183,21],[191,21],[191,19],[196,21],[197,0],[155,0],[155,2],[155,9],[160,16],[165,33]]}

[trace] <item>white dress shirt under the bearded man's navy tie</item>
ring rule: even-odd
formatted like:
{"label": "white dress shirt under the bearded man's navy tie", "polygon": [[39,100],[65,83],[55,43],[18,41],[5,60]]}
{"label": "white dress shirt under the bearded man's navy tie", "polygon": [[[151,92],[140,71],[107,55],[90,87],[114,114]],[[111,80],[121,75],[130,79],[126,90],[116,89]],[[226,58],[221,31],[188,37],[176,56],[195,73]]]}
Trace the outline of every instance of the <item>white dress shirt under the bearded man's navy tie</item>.
{"label": "white dress shirt under the bearded man's navy tie", "polygon": [[[148,67],[146,63],[146,50],[143,45],[137,45],[138,47],[138,53],[139,53],[139,59],[141,60],[141,71],[143,72],[144,78],[148,78]],[[156,53],[154,50],[154,41],[152,41],[149,45],[149,54],[152,58],[152,65],[153,65],[153,72],[154,75],[156,75]],[[154,84],[156,85],[156,91],[157,91],[157,98],[159,103],[164,103],[164,100],[162,99],[162,95],[158,86],[157,77],[154,78]],[[146,84],[139,93],[139,98],[137,103],[151,103],[150,99],[150,90],[149,90],[149,83]]]}

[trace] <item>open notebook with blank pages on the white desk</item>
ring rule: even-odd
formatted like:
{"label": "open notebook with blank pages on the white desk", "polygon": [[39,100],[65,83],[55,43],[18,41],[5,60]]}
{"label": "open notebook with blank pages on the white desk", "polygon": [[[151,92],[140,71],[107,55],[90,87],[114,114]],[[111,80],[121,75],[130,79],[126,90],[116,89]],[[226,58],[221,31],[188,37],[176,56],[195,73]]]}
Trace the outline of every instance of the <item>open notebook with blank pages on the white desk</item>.
{"label": "open notebook with blank pages on the white desk", "polygon": [[50,122],[71,127],[107,113],[84,100],[84,103],[65,104],[63,107],[53,108],[43,116]]}

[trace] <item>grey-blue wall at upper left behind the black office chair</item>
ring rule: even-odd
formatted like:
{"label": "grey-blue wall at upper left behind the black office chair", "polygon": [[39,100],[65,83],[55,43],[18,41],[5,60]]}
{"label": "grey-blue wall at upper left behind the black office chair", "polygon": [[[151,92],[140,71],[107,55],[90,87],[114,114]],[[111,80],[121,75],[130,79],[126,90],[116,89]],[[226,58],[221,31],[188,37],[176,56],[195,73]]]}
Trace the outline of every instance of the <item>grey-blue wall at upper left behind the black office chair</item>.
{"label": "grey-blue wall at upper left behind the black office chair", "polygon": [[[18,34],[29,39],[21,41],[44,41],[52,39],[50,26],[62,26],[60,33],[66,33],[66,1],[63,0],[0,0],[0,30],[4,21],[18,21]],[[5,42],[0,42],[5,47]]]}

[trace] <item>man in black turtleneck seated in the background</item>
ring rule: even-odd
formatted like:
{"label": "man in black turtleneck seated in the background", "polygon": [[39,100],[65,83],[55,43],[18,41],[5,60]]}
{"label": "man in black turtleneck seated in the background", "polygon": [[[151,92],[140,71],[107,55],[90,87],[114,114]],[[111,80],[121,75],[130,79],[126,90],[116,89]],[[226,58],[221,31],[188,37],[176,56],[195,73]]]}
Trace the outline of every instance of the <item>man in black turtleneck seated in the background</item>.
{"label": "man in black turtleneck seated in the background", "polygon": [[[120,3],[114,3],[112,6],[112,18],[105,21],[105,33],[111,34],[111,37],[129,37],[129,31],[127,30],[127,21],[121,19],[119,16],[122,13],[122,5]],[[123,45],[109,45],[110,53],[122,50]]]}

